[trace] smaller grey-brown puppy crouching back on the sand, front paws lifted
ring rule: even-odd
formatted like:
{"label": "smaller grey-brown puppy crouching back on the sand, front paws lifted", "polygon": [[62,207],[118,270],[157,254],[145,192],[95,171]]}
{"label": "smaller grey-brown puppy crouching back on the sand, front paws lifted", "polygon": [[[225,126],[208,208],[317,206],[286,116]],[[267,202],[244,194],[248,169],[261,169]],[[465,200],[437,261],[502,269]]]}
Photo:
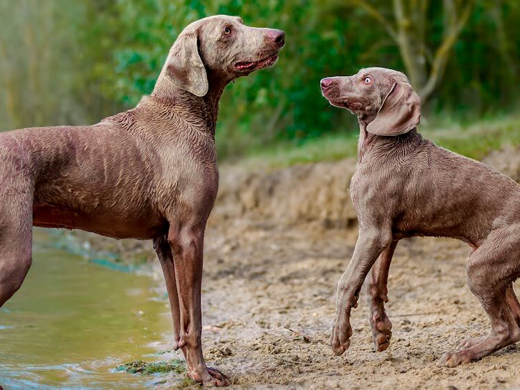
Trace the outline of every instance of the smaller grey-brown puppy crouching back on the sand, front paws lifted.
{"label": "smaller grey-brown puppy crouching back on the sand, front paws lifted", "polygon": [[469,288],[491,321],[487,336],[466,339],[442,363],[455,367],[519,341],[520,305],[512,283],[520,276],[520,186],[421,137],[420,99],[403,73],[366,68],[324,78],[321,87],[331,105],[357,115],[360,127],[350,184],[359,238],[337,289],[334,353],[349,348],[351,308],[371,268],[373,342],[379,351],[388,347],[388,268],[398,241],[412,236],[458,238],[471,246]]}

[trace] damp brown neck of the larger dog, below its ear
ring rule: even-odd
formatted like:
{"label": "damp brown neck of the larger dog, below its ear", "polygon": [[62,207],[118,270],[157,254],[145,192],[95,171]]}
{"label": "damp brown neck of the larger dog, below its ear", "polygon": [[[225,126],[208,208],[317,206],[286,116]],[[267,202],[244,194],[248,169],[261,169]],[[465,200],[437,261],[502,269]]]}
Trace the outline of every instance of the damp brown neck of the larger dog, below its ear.
{"label": "damp brown neck of the larger dog, below its ear", "polygon": [[205,130],[215,139],[218,102],[228,83],[229,81],[223,81],[220,76],[208,72],[208,93],[198,97],[177,87],[169,78],[161,74],[150,96],[169,107],[174,115],[179,115],[188,122],[201,122]]}

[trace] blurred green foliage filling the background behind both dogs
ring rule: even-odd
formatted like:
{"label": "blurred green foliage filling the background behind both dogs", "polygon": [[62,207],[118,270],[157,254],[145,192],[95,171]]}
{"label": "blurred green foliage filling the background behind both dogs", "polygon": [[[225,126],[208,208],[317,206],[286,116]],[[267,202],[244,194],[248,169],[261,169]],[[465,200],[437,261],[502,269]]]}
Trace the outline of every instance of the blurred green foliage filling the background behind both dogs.
{"label": "blurred green foliage filling the background behind both dogs", "polygon": [[[428,48],[442,43],[442,6],[448,2],[419,2],[427,5],[426,21],[420,31]],[[33,85],[25,77],[30,51],[20,50],[27,45],[23,39],[20,43],[18,36],[30,27],[28,23],[39,28],[45,16],[38,19],[38,13],[33,13],[30,19],[24,19],[22,16],[31,7],[29,3],[9,2],[9,7],[0,13],[0,42],[4,42],[9,53],[16,53],[16,63],[10,69],[25,80],[22,90],[31,90]],[[34,71],[45,72],[46,80],[54,83],[31,91],[38,96],[38,104],[28,105],[23,115],[17,114],[21,109],[11,109],[9,113],[6,100],[2,100],[0,115],[8,120],[0,122],[0,130],[51,125],[67,119],[94,121],[132,107],[152,90],[169,47],[182,28],[213,14],[236,14],[246,24],[282,28],[287,37],[275,68],[239,79],[225,91],[217,130],[221,157],[238,157],[244,151],[262,149],[273,142],[302,144],[334,132],[352,132],[356,129],[354,117],[329,107],[319,91],[319,80],[327,75],[352,74],[369,65],[405,70],[399,47],[386,26],[352,0],[45,3],[56,22],[41,33],[41,39],[45,42],[46,36],[53,38],[55,44],[48,46],[48,55],[59,60],[54,65],[51,61],[45,70]],[[371,0],[366,4],[396,23],[391,1]],[[413,4],[418,2],[405,1],[408,8]],[[11,18],[12,13],[22,16]],[[423,110],[425,115],[474,121],[484,115],[513,110],[520,100],[520,46],[515,38],[520,36],[519,22],[518,1],[474,1],[469,19],[450,50],[442,79]],[[426,53],[425,60],[431,60],[430,56],[433,54]],[[2,64],[10,63],[8,57],[2,58],[0,52],[0,70]],[[1,80],[0,76],[0,86],[4,88],[6,83]],[[22,103],[18,107],[22,107],[25,100],[19,100]],[[30,113],[35,107],[47,107],[49,101],[56,103],[35,122]]]}

